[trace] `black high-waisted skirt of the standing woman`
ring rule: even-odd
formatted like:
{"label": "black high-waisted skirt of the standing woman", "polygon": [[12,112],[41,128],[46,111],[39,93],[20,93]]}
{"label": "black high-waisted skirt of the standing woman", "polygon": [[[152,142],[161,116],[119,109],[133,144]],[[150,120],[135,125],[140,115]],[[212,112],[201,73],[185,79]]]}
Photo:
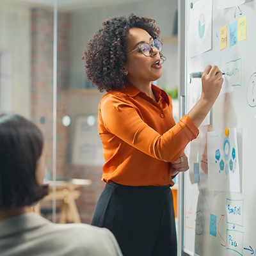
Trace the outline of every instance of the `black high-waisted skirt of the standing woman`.
{"label": "black high-waisted skirt of the standing woman", "polygon": [[124,256],[176,256],[170,186],[106,184],[92,225],[111,230]]}

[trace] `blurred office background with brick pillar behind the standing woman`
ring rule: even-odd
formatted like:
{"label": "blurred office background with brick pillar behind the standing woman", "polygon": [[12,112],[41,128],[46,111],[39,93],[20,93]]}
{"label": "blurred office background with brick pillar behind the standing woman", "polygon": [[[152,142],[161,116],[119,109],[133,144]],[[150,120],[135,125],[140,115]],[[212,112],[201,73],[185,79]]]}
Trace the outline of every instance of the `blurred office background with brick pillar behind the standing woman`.
{"label": "blurred office background with brick pillar behind the standing woman", "polygon": [[130,13],[157,20],[167,60],[154,83],[170,93],[179,119],[177,1],[0,0],[0,113],[23,115],[44,133],[51,191],[36,211],[45,218],[91,223],[105,185],[97,129],[103,94],[81,61],[104,20]]}

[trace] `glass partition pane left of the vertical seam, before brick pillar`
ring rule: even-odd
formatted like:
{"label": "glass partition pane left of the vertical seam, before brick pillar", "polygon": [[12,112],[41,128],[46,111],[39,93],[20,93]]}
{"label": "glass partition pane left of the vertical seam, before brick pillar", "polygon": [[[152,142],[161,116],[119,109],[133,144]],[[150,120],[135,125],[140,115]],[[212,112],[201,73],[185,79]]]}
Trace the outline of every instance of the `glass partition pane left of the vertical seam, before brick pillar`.
{"label": "glass partition pane left of the vertical seam, before brick pillar", "polygon": [[[41,129],[47,179],[54,166],[53,24],[53,0],[0,0],[0,113],[25,116]],[[52,220],[52,202],[41,213]]]}

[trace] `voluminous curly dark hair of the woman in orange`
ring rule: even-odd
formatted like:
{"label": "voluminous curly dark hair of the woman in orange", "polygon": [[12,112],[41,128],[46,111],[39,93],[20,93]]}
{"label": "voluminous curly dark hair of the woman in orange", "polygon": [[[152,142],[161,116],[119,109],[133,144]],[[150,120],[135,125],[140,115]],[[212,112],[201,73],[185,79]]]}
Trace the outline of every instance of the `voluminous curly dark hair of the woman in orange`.
{"label": "voluminous curly dark hair of the woman in orange", "polygon": [[[82,56],[89,81],[97,86],[100,92],[109,92],[113,88],[124,88],[125,76],[122,72],[127,61],[127,35],[131,28],[141,28],[147,31],[153,39],[159,38],[160,29],[156,20],[146,17],[115,17],[102,22],[99,29],[86,45]],[[161,60],[165,58],[160,54]]]}

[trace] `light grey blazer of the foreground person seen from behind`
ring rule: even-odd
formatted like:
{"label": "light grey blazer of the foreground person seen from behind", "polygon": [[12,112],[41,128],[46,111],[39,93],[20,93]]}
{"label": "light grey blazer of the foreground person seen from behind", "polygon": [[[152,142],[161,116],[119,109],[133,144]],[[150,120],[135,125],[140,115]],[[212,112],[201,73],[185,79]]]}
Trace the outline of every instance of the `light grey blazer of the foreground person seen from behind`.
{"label": "light grey blazer of the foreground person seen from behind", "polygon": [[0,222],[1,256],[122,256],[113,234],[87,224],[54,224],[34,212]]}

